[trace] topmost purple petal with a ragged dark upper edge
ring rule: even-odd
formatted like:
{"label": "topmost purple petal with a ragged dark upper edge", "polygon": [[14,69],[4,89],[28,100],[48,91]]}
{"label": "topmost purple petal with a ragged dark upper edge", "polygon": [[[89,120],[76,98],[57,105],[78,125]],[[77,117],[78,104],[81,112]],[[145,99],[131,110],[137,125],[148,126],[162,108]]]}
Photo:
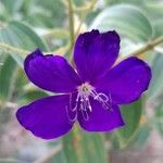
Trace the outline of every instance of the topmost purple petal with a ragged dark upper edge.
{"label": "topmost purple petal with a ragged dark upper edge", "polygon": [[93,83],[115,62],[120,50],[120,37],[115,32],[100,34],[91,30],[78,36],[74,62],[83,82]]}

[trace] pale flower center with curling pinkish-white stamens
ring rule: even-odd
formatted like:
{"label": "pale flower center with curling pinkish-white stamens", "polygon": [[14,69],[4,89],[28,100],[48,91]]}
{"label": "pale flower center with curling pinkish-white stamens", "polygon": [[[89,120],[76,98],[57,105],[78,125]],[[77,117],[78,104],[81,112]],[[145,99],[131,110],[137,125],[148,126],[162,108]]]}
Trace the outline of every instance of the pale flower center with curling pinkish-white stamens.
{"label": "pale flower center with curling pinkish-white stamens", "polygon": [[[96,88],[92,87],[89,83],[84,83],[80,86],[77,87],[77,97],[76,97],[76,103],[75,106],[72,108],[72,96],[70,98],[70,108],[72,112],[75,112],[75,116],[73,118],[70,117],[68,120],[71,122],[74,122],[77,117],[77,109],[82,112],[82,116],[85,121],[89,120],[89,113],[92,112],[92,108],[90,104],[89,98],[91,97],[93,100],[98,101],[102,104],[102,106],[105,110],[112,110],[112,99],[111,95],[106,96],[102,92],[97,92]],[[67,112],[68,113],[68,112]]]}

